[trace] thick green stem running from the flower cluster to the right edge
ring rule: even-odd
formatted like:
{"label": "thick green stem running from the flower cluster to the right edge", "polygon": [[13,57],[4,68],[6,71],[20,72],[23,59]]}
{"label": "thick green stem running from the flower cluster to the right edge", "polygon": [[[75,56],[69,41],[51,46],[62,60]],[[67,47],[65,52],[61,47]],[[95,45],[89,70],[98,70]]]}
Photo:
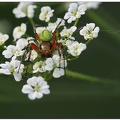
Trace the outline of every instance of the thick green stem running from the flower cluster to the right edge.
{"label": "thick green stem running from the flower cluster to the right edge", "polygon": [[70,70],[66,70],[66,75],[71,76],[73,78],[80,79],[80,80],[84,80],[84,81],[95,82],[95,83],[104,83],[104,84],[113,85],[113,86],[120,86],[120,82],[117,80],[98,78],[98,77],[94,77],[94,76],[90,76],[90,75],[73,72]]}

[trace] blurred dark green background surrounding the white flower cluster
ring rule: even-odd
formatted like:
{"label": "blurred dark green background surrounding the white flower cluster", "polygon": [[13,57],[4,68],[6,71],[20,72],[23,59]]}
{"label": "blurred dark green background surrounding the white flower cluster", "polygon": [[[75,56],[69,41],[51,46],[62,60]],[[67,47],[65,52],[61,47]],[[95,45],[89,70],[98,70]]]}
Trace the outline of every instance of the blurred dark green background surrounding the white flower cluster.
{"label": "blurred dark green background surrounding the white flower cluster", "polygon": [[[63,17],[66,3],[36,3],[51,6],[56,17]],[[27,18],[16,19],[12,14],[18,3],[0,3],[0,32],[10,35]],[[91,82],[84,78],[64,76],[49,81],[51,94],[30,101],[21,93],[24,81],[16,82],[10,76],[0,76],[0,118],[120,118],[120,3],[103,2],[98,9],[89,9],[79,21],[79,28],[94,22],[100,27],[99,37],[91,42],[80,58],[68,69],[88,76],[110,81],[111,84]],[[40,8],[36,10],[39,14]],[[40,23],[38,16],[34,18]],[[31,28],[29,32],[32,33]],[[77,36],[76,39],[83,40]],[[2,53],[2,49],[0,49]],[[0,54],[1,54],[0,53]],[[0,57],[3,62],[3,56]],[[102,79],[103,78],[103,79]]]}

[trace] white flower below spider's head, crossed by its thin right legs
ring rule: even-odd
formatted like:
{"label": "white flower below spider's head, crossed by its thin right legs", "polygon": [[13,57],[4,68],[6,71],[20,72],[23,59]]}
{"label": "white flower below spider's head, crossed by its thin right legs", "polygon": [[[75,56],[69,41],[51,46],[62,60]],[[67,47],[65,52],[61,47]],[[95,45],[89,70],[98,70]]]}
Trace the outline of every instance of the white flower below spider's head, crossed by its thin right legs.
{"label": "white flower below spider's head, crossed by its thin right legs", "polygon": [[53,71],[53,77],[59,78],[65,74],[64,68],[67,66],[67,61],[63,57],[60,58],[59,55],[53,55],[52,58],[47,58],[45,61],[45,69],[48,71]]}

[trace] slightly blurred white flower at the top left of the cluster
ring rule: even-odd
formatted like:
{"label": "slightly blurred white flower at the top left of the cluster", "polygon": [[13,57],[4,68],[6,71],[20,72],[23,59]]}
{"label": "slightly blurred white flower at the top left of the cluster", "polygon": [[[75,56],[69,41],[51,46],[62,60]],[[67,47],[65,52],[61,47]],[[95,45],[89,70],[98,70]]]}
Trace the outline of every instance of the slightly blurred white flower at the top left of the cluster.
{"label": "slightly blurred white flower at the top left of the cluster", "polygon": [[32,2],[20,2],[17,8],[13,9],[13,14],[15,14],[16,18],[23,18],[23,17],[34,17],[34,9],[37,8],[36,5],[31,5]]}

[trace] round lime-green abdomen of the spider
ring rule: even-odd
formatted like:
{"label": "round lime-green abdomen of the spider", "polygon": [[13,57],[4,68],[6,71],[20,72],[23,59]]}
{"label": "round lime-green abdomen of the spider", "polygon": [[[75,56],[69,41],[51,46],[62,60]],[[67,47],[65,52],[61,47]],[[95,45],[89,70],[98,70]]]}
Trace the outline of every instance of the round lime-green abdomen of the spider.
{"label": "round lime-green abdomen of the spider", "polygon": [[50,32],[49,30],[43,30],[40,34],[40,38],[43,41],[50,41],[52,38],[52,32]]}

